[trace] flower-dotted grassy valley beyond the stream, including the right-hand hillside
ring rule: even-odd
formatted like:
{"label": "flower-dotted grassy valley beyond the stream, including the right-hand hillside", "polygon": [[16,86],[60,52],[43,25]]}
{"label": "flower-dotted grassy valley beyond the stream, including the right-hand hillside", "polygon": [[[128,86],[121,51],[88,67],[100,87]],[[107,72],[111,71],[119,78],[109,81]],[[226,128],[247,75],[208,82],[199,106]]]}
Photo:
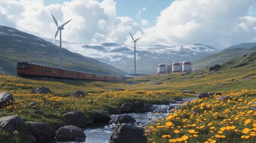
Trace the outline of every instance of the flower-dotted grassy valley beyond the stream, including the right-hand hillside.
{"label": "flower-dotted grassy valley beyond the stream, including the right-hand hillside", "polygon": [[[249,60],[249,61],[248,61]],[[219,92],[240,89],[255,89],[256,85],[256,54],[248,57],[233,58],[223,63],[220,73],[204,73],[199,70],[191,74],[162,74],[147,77],[128,79],[125,83],[98,82],[78,80],[55,79],[24,79],[13,76],[0,76],[0,92],[11,92],[16,99],[16,106],[0,109],[0,117],[12,114],[20,115],[24,120],[47,122],[55,129],[65,125],[63,113],[79,110],[90,115],[95,110],[108,110],[117,107],[122,102],[144,101],[161,103],[162,99],[170,99],[172,96],[186,96],[180,91],[192,90],[195,92]],[[245,66],[238,66],[245,64]],[[203,72],[203,74],[198,74]],[[201,77],[204,75],[204,77]],[[182,79],[187,77],[186,79]],[[189,78],[193,77],[193,78]],[[229,82],[230,79],[235,79]],[[127,82],[137,82],[129,85]],[[151,83],[150,83],[151,82]],[[152,82],[163,82],[161,85],[152,85]],[[54,95],[30,94],[32,89],[39,86],[47,86]],[[115,88],[135,89],[143,91],[125,92],[101,92],[112,91]],[[164,91],[166,89],[167,91]],[[81,90],[90,92],[85,98],[69,97],[70,92]],[[155,91],[158,90],[158,91]],[[177,91],[175,91],[177,90]],[[35,101],[35,107],[30,107],[30,102]],[[35,110],[42,110],[43,115],[33,114]],[[21,128],[23,128],[21,126]],[[21,132],[21,128],[18,130]],[[24,139],[26,133],[21,133],[20,139]],[[14,137],[9,132],[0,129],[0,142],[14,142]],[[7,140],[2,140],[7,139]]]}

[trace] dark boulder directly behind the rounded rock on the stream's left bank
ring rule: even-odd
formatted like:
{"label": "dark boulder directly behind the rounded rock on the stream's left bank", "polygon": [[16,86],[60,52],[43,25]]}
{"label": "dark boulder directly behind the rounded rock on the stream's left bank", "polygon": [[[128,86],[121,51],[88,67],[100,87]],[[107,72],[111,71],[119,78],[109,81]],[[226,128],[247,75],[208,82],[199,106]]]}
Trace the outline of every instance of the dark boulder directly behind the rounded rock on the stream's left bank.
{"label": "dark boulder directly behind the rounded rock on the stream's left bank", "polygon": [[67,122],[67,125],[84,127],[87,125],[87,119],[85,114],[81,111],[71,111],[69,113],[63,114],[64,119]]}

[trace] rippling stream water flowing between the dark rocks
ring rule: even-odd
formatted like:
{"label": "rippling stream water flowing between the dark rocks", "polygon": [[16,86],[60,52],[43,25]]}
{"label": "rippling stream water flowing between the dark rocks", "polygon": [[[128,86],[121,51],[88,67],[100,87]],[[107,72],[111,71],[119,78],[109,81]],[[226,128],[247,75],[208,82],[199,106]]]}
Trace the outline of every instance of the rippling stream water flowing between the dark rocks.
{"label": "rippling stream water flowing between the dark rocks", "polygon": [[[152,119],[162,119],[163,117],[168,116],[168,113],[171,113],[173,107],[177,108],[182,105],[183,102],[191,101],[195,98],[183,98],[183,101],[177,102],[170,105],[154,105],[155,111],[158,114],[148,112],[148,113],[128,113],[129,116],[134,117],[136,120],[135,126],[144,127],[147,126]],[[111,119],[116,119],[118,115],[112,115]],[[85,143],[104,143],[109,142],[110,136],[112,135],[115,125],[98,125],[84,128],[85,135],[87,136]],[[62,141],[55,141],[58,143],[66,143]]]}

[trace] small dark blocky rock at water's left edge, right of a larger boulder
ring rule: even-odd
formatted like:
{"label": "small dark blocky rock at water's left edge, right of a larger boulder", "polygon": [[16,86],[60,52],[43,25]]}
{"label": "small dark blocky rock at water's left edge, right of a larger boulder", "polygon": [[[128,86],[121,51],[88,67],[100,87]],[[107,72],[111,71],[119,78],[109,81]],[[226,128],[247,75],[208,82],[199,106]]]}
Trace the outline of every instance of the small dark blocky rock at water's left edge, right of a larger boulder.
{"label": "small dark blocky rock at water's left edge, right of a larger boulder", "polygon": [[110,114],[105,111],[95,111],[92,115],[94,117],[94,123],[109,123],[110,121]]}

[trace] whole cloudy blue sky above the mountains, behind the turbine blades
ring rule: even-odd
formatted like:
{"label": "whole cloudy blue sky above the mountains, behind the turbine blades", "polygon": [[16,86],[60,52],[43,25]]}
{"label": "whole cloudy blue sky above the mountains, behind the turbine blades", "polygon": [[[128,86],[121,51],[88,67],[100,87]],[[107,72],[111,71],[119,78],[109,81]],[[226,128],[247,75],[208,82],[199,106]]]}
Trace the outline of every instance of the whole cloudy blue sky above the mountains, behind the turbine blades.
{"label": "whole cloudy blue sky above the mountains, behind the turbine blades", "polygon": [[[255,0],[0,0],[0,25],[76,43],[137,47],[202,43],[217,49],[256,42]],[[57,36],[57,39],[59,36]]]}

